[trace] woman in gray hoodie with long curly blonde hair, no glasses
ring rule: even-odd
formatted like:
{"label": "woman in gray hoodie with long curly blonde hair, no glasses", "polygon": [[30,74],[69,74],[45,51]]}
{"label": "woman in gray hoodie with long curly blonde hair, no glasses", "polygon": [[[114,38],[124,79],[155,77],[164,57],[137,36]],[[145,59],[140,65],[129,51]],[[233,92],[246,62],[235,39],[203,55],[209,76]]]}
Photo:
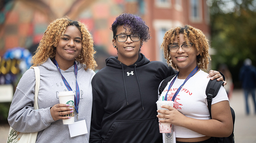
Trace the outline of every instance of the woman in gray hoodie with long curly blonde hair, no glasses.
{"label": "woman in gray hoodie with long curly blonde hair, no glasses", "polygon": [[[91,80],[95,74],[93,69],[97,66],[94,54],[92,36],[83,23],[67,17],[50,23],[32,58],[33,66],[40,69],[39,109],[33,110],[35,73],[34,69],[29,69],[23,74],[14,93],[8,117],[10,126],[18,132],[38,132],[37,143],[88,143],[92,109]],[[65,85],[69,85],[79,97],[77,108],[73,111],[67,104],[59,104],[58,93],[68,91]],[[75,113],[75,122],[85,120],[86,126],[83,128],[87,127],[87,134],[70,137],[68,125],[62,122],[71,118],[62,116],[70,112]]]}

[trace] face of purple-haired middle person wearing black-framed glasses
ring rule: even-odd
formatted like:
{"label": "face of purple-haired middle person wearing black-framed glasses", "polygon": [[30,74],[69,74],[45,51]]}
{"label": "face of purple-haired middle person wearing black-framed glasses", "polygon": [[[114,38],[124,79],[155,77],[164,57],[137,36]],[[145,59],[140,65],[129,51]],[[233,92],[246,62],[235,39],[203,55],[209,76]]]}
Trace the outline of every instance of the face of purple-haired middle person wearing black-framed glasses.
{"label": "face of purple-haired middle person wearing black-framed glasses", "polygon": [[[134,34],[131,33],[129,30],[126,31],[124,29],[124,26],[118,26],[116,35],[119,34]],[[130,37],[127,37],[127,40],[125,42],[119,42],[117,38],[112,40],[114,46],[117,46],[118,51],[118,60],[122,62],[125,65],[131,65],[134,64],[139,57],[139,50],[140,50],[140,44],[141,40],[139,41],[132,41]]]}

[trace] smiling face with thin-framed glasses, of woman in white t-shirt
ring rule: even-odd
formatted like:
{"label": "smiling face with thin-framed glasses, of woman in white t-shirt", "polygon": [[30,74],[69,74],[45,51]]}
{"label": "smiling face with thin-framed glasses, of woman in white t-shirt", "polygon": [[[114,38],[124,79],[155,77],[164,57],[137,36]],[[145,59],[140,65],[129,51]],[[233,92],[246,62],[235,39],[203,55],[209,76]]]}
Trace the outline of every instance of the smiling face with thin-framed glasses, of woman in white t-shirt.
{"label": "smiling face with thin-framed glasses, of woman in white t-shirt", "polygon": [[[189,43],[192,43],[189,41]],[[179,44],[177,36],[175,37],[173,44],[181,46],[182,44],[186,44],[186,40],[184,39],[184,34],[179,34]],[[179,47],[177,52],[171,52],[170,56],[173,63],[179,68],[179,71],[192,71],[197,66],[196,56],[199,55],[200,52],[197,52],[196,48],[192,46],[191,50],[185,52],[181,47]]]}

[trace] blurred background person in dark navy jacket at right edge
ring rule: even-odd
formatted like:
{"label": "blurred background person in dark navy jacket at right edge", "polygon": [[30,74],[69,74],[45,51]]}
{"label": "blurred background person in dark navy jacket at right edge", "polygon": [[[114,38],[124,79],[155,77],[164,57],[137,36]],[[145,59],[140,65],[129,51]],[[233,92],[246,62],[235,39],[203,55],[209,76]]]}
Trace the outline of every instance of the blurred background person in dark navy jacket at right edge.
{"label": "blurred background person in dark navy jacket at right edge", "polygon": [[239,79],[242,82],[242,88],[244,89],[246,115],[249,115],[250,109],[248,105],[248,96],[252,94],[254,103],[254,114],[256,114],[256,100],[255,100],[255,86],[256,86],[256,68],[252,65],[251,59],[244,60],[244,65],[240,69]]}

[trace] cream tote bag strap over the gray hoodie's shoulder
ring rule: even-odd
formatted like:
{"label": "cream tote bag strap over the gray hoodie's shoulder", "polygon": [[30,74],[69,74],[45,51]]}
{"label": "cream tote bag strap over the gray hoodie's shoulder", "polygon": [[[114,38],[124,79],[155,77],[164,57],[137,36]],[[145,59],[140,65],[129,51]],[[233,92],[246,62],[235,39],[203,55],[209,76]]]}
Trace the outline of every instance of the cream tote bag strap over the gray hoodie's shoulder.
{"label": "cream tote bag strap over the gray hoodie's shoulder", "polygon": [[35,70],[35,77],[36,77],[36,85],[35,85],[35,102],[34,102],[34,109],[39,109],[38,107],[38,92],[40,86],[40,70],[38,67],[30,67],[30,69]]}

